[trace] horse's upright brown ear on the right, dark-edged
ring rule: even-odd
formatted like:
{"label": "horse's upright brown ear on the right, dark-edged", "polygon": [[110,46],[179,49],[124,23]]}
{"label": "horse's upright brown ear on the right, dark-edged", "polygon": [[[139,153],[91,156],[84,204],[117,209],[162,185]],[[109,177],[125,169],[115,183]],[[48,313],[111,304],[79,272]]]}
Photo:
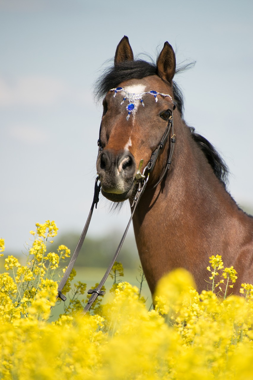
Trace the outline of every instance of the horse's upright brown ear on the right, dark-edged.
{"label": "horse's upright brown ear on the right, dark-edged", "polygon": [[171,82],[176,72],[176,56],[172,46],[166,41],[157,59],[157,70],[161,78]]}

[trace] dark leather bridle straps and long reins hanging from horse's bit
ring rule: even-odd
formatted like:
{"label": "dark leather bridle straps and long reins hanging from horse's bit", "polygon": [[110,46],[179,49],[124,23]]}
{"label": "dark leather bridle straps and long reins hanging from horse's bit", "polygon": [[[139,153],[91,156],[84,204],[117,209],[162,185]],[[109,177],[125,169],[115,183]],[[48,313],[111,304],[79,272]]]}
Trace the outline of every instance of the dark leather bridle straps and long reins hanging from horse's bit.
{"label": "dark leather bridle straps and long reins hanging from horse's bit", "polygon": [[[115,254],[111,260],[111,263],[109,264],[108,269],[103,276],[103,279],[100,281],[99,285],[95,289],[88,290],[88,294],[91,294],[91,296],[90,296],[89,301],[87,302],[87,305],[85,306],[84,310],[82,311],[82,314],[86,314],[87,311],[90,310],[90,307],[92,306],[93,302],[96,300],[96,298],[98,296],[102,296],[105,294],[105,291],[101,290],[101,288],[103,287],[104,283],[106,282],[106,280],[107,280],[107,278],[111,272],[111,269],[112,269],[112,267],[113,267],[113,265],[117,259],[117,256],[119,255],[119,252],[120,252],[122,244],[125,240],[128,228],[129,228],[130,223],[133,219],[133,215],[134,215],[134,212],[136,210],[136,207],[137,207],[137,205],[141,199],[141,196],[142,196],[142,194],[143,194],[143,192],[147,186],[147,182],[149,180],[149,175],[153,171],[153,168],[155,166],[157,158],[158,158],[161,150],[163,150],[163,147],[166,144],[166,141],[168,140],[169,135],[171,134],[171,142],[170,142],[169,150],[168,150],[168,159],[166,161],[166,166],[164,168],[164,172],[161,175],[158,182],[153,187],[149,188],[149,190],[153,190],[154,188],[156,188],[157,185],[160,184],[160,182],[163,180],[163,178],[166,176],[166,174],[169,171],[171,161],[172,161],[172,155],[174,152],[174,144],[176,142],[175,134],[174,134],[174,125],[173,125],[173,111],[175,108],[176,108],[176,106],[174,105],[174,107],[171,111],[171,115],[169,116],[169,119],[168,119],[168,125],[166,127],[166,130],[165,130],[160,142],[158,143],[157,148],[152,152],[152,154],[150,156],[150,160],[148,161],[147,165],[143,169],[142,173],[141,173],[141,168],[143,165],[143,160],[141,160],[139,163],[138,171],[137,171],[136,176],[135,176],[135,186],[136,187],[138,186],[138,188],[137,188],[136,194],[133,198],[133,203],[131,205],[132,212],[131,212],[130,219],[129,219],[128,224],[126,226],[125,232],[123,233],[123,236],[120,240],[118,248],[117,248],[117,250],[116,250],[116,252],[115,252]],[[101,140],[100,140],[100,134],[101,134],[101,124],[100,124],[99,139],[98,139],[98,155],[100,155],[101,152],[103,151],[103,147],[101,145]],[[92,218],[94,206],[97,207],[97,204],[99,201],[99,193],[100,193],[100,189],[101,189],[101,182],[98,184],[98,181],[100,181],[99,176],[96,177],[96,180],[95,180],[94,196],[93,196],[92,206],[90,208],[90,212],[89,212],[87,221],[85,223],[81,237],[77,243],[76,249],[74,250],[74,253],[71,256],[70,263],[68,264],[68,267],[66,268],[66,271],[65,271],[65,273],[64,273],[64,275],[63,275],[63,277],[59,283],[59,286],[58,286],[57,299],[60,298],[63,301],[66,301],[66,296],[64,294],[62,294],[62,289],[65,286],[66,281],[68,280],[68,277],[70,276],[70,273],[71,273],[71,271],[74,267],[74,264],[76,262],[77,256],[79,255],[79,252],[82,248],[82,244],[84,242],[85,236],[87,234],[87,231],[88,231],[88,228],[90,225],[90,220]]]}

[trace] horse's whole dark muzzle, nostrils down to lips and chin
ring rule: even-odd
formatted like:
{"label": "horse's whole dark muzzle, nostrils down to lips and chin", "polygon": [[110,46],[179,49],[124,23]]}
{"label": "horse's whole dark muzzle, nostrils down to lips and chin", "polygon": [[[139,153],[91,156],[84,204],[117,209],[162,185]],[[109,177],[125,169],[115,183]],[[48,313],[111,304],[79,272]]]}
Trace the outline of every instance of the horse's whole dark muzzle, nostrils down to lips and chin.
{"label": "horse's whole dark muzzle, nostrils down to lips and chin", "polygon": [[96,169],[103,196],[113,202],[122,202],[131,196],[136,172],[131,152],[123,150],[115,154],[112,149],[104,149],[98,156]]}

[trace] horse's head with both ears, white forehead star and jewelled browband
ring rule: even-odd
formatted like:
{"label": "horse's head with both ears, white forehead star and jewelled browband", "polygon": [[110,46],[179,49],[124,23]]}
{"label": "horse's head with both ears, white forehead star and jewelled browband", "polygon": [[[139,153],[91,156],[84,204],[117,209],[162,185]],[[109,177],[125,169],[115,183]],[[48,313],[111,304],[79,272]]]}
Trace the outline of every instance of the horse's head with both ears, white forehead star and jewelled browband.
{"label": "horse's head with both ears, white forehead star and jewelled browband", "polygon": [[[175,53],[168,42],[164,43],[157,65],[134,61],[126,36],[117,46],[114,67],[101,80],[106,96],[96,162],[101,192],[109,200],[121,202],[131,197],[139,163],[143,160],[144,168],[158,146],[174,108],[175,71]],[[150,186],[159,178],[166,158],[164,149]]]}

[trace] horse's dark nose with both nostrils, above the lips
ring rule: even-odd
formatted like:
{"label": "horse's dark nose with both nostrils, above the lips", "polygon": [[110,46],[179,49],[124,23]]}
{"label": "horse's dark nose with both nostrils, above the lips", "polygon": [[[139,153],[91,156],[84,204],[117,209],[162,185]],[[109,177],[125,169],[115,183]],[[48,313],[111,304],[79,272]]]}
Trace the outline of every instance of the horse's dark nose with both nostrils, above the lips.
{"label": "horse's dark nose with both nostrils, above the lips", "polygon": [[125,179],[133,177],[135,168],[135,160],[129,150],[115,154],[113,150],[104,149],[97,165],[100,176],[104,177],[105,174],[109,174],[116,178],[123,177]]}

